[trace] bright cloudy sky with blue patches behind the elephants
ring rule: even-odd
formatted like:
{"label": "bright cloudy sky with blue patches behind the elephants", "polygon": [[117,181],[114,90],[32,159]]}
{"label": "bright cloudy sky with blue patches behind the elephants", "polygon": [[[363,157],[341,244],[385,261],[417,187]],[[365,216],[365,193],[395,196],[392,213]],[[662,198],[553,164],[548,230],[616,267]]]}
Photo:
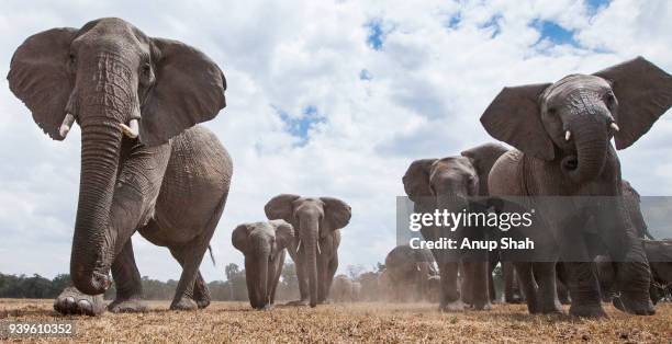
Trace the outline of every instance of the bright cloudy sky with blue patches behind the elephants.
{"label": "bright cloudy sky with blue patches behind the elephants", "polygon": [[[206,10],[203,10],[206,9]],[[340,270],[372,266],[395,243],[395,196],[414,160],[492,140],[479,116],[504,85],[594,72],[643,55],[672,70],[667,1],[7,1],[0,73],[29,35],[120,16],[150,36],[179,39],[224,70],[227,107],[205,124],[234,159],[213,249],[242,264],[237,223],[265,218],[279,193],[335,196],[354,209]],[[669,116],[669,114],[667,115]],[[672,193],[663,116],[620,153],[642,195]],[[0,262],[7,273],[67,272],[79,180],[79,131],[49,140],[4,82],[0,88]],[[177,279],[164,248],[134,237],[143,275]]]}

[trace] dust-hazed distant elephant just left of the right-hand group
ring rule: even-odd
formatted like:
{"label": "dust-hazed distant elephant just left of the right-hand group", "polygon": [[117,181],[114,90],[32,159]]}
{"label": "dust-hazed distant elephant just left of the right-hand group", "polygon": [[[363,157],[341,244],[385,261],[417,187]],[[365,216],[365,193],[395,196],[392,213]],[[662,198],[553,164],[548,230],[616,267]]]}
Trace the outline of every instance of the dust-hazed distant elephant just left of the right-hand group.
{"label": "dust-hazed distant elephant just left of the right-hand group", "polygon": [[399,245],[385,256],[385,271],[395,300],[421,301],[428,295],[428,278],[438,275],[429,250]]}

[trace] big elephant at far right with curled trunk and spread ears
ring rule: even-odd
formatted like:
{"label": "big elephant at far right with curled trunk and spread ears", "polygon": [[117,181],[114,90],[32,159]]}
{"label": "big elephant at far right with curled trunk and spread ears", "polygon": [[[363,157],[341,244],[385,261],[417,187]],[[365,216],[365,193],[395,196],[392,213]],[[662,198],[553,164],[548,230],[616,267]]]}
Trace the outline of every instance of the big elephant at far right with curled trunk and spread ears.
{"label": "big elephant at far right with curled trunk and spread ears", "polygon": [[[505,88],[481,123],[494,138],[517,149],[493,167],[491,195],[620,196],[620,164],[612,137],[617,149],[629,147],[671,105],[672,77],[643,58],[591,76],[571,74],[552,84]],[[531,238],[536,251],[547,255],[545,263],[516,264],[529,311],[561,312],[553,261],[570,254],[560,250],[569,248],[573,262],[581,262],[565,263],[571,314],[605,317],[591,263],[592,254],[601,250],[617,256],[616,279],[625,309],[653,314],[647,259],[623,202],[571,199],[573,205],[562,210],[538,209],[534,226],[513,230]],[[590,217],[597,225],[589,233],[581,225]],[[569,226],[562,222],[570,218],[574,221]],[[533,273],[539,277],[538,288],[531,283]]]}

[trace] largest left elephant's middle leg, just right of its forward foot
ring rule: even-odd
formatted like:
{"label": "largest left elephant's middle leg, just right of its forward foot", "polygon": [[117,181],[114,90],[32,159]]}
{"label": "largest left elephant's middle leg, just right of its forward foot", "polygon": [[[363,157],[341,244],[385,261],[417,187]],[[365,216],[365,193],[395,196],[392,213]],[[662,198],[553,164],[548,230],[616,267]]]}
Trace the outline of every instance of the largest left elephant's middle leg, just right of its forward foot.
{"label": "largest left elephant's middle leg, just right of its forward foot", "polygon": [[112,263],[112,277],[116,287],[116,297],[108,306],[109,311],[113,313],[142,312],[147,309],[147,305],[142,300],[143,284],[135,264],[131,239],[126,241],[121,253]]}

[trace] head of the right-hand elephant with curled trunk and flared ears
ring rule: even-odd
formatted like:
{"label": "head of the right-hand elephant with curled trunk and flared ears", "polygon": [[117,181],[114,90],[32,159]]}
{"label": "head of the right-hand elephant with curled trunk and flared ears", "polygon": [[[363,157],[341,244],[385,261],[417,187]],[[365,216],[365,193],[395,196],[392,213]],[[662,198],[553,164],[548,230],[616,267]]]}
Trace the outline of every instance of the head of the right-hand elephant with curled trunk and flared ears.
{"label": "head of the right-hand elephant with curled trunk and flared ears", "polygon": [[638,57],[594,74],[504,88],[481,116],[485,130],[526,154],[558,160],[576,184],[602,173],[608,145],[631,146],[672,106],[672,77]]}

